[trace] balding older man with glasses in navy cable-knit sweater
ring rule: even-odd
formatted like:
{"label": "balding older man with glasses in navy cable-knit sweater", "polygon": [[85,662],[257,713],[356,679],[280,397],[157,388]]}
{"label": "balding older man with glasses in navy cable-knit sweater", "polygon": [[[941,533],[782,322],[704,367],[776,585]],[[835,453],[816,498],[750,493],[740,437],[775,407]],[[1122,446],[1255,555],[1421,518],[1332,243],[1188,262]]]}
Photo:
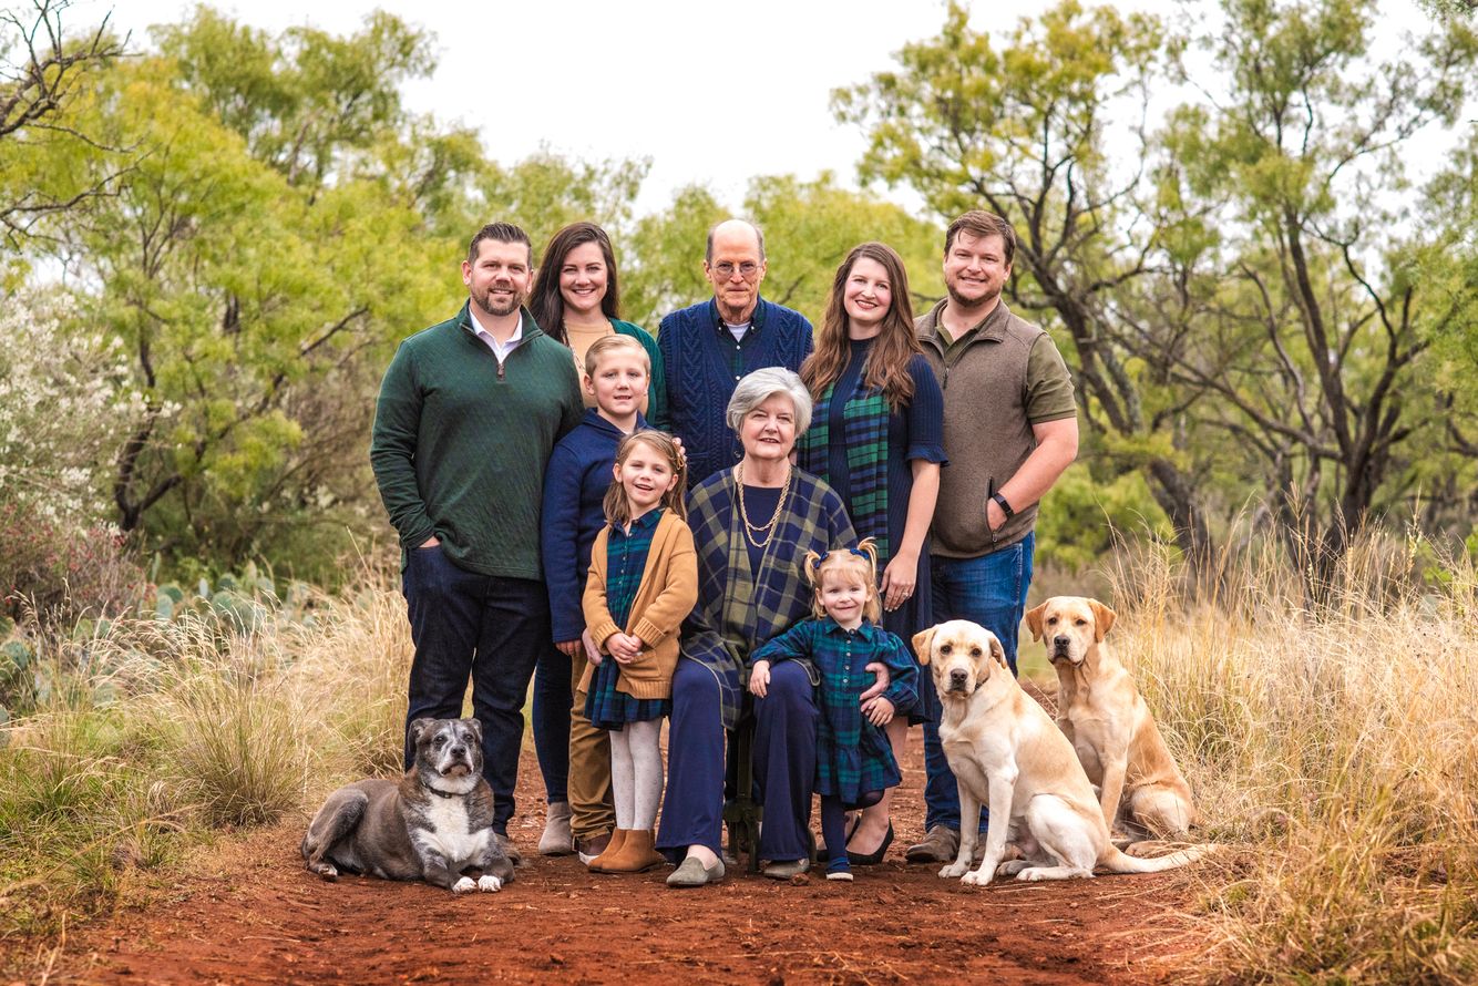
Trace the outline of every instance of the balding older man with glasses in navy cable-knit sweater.
{"label": "balding older man with glasses in navy cable-knit sweater", "polygon": [[742,451],[724,421],[735,384],[763,367],[800,371],[811,352],[811,324],[800,312],[766,302],[764,234],[729,219],[708,232],[704,276],[714,297],[672,312],[658,330],[667,370],[672,435],[687,451],[687,482],[696,486],[739,461]]}

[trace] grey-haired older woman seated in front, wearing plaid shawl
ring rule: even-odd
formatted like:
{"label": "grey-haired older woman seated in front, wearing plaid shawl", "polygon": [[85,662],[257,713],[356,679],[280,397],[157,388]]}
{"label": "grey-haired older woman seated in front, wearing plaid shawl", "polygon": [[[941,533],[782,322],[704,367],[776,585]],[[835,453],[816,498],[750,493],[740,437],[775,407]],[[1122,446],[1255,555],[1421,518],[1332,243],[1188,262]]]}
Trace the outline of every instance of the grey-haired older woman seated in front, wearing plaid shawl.
{"label": "grey-haired older woman seated in front, wearing plaid shawl", "polygon": [[[749,652],[810,613],[807,551],[854,544],[831,486],[791,464],[810,426],[811,398],[789,370],[757,370],[735,387],[729,427],[743,457],[689,497],[698,545],[698,606],[683,627],[672,677],[667,800],[658,849],[681,865],[672,887],[723,878],[724,730],[739,721],[740,674]],[[760,857],[766,875],[806,869],[807,816],[816,775],[814,668],[786,661],[755,699],[754,775],[764,803]]]}

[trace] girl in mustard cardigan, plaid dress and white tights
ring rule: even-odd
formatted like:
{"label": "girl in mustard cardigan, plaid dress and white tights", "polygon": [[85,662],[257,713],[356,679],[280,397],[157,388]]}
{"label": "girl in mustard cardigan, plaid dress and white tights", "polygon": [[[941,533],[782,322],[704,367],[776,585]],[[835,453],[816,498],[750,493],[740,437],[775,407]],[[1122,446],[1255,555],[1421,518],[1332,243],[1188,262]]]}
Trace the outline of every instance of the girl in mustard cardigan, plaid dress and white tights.
{"label": "girl in mustard cardigan, plaid dress and white tights", "polygon": [[[667,860],[653,847],[662,801],[662,717],[672,711],[678,630],[698,602],[698,556],[687,529],[686,467],[662,432],[616,446],[606,519],[590,550],[585,625],[600,649],[581,687],[585,717],[610,730],[616,831],[590,869],[634,874]],[[605,659],[609,655],[610,659]]]}

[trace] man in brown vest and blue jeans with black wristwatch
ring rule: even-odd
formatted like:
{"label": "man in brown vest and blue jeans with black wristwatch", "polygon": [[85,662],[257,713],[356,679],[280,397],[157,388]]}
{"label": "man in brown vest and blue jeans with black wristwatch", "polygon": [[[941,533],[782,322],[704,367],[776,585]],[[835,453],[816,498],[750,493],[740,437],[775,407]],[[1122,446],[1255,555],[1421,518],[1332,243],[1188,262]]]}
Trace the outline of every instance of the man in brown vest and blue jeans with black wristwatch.
{"label": "man in brown vest and blue jeans with black wristwatch", "polygon": [[[1015,231],[987,211],[944,235],[949,296],[915,322],[944,392],[944,452],[931,528],[934,622],[970,619],[1001,639],[1015,673],[1017,628],[1032,584],[1036,504],[1077,455],[1073,380],[1045,331],[1001,300]],[[959,791],[939,742],[939,698],[924,676],[924,841],[909,862],[959,849]],[[977,819],[964,819],[975,825]],[[981,812],[980,831],[986,817]]]}

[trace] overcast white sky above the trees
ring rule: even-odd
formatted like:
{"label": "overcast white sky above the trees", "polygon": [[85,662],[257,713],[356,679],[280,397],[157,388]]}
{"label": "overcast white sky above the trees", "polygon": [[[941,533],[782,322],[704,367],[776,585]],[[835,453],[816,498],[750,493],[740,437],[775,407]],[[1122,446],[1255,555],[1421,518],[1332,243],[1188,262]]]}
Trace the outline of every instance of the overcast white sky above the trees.
{"label": "overcast white sky above the trees", "polygon": [[[977,0],[971,24],[1007,30],[1052,0]],[[838,124],[831,90],[894,65],[905,43],[933,37],[943,0],[223,0],[217,9],[260,28],[313,24],[356,30],[380,7],[429,28],[440,52],[409,105],[477,127],[504,164],[547,145],[582,160],[650,157],[638,213],[689,182],[732,207],[757,174],[804,179],[832,170],[854,185],[863,140]],[[1120,9],[1175,16],[1174,0]],[[183,19],[185,0],[77,0],[74,24],[148,27]],[[1388,24],[1420,27],[1411,0],[1389,0]],[[1394,35],[1394,33],[1391,33]],[[909,203],[899,195],[899,201]]]}

